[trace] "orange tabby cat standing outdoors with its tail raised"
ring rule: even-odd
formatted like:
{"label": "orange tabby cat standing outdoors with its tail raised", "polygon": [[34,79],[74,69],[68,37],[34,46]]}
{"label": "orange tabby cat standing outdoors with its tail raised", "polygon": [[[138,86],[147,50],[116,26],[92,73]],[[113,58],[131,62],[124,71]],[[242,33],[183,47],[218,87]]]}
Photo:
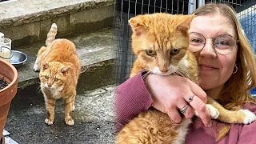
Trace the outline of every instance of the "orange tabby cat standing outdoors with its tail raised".
{"label": "orange tabby cat standing outdoors with its tail raised", "polygon": [[47,34],[46,46],[42,46],[38,51],[34,70],[41,69],[39,78],[46,102],[46,124],[53,124],[55,102],[58,98],[64,98],[66,100],[65,122],[66,125],[73,126],[71,111],[74,110],[81,64],[74,43],[64,38],[55,39],[56,34],[57,25],[53,24]]}

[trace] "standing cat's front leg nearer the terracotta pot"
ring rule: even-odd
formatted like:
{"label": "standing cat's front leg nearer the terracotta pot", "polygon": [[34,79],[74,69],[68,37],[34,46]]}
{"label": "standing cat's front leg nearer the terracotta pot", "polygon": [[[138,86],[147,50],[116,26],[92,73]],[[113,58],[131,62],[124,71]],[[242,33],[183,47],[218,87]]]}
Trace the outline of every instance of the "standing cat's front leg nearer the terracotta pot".
{"label": "standing cat's front leg nearer the terracotta pot", "polygon": [[47,110],[47,117],[45,119],[45,122],[47,125],[54,124],[54,110],[55,110],[55,102],[56,100],[54,98],[46,98],[45,96],[45,102],[46,102],[46,110]]}

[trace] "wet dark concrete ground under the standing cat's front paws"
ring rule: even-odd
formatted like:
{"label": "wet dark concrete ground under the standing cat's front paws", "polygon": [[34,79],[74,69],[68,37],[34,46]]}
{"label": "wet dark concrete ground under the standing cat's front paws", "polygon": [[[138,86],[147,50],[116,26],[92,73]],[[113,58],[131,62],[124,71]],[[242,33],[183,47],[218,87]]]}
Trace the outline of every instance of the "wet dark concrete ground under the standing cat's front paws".
{"label": "wet dark concrete ground under the standing cat's front paws", "polygon": [[19,95],[12,101],[5,129],[10,138],[22,144],[114,143],[114,90],[111,85],[78,94],[74,126],[66,126],[64,122],[62,100],[57,101],[54,124],[48,126],[44,122],[46,110],[41,92]]}

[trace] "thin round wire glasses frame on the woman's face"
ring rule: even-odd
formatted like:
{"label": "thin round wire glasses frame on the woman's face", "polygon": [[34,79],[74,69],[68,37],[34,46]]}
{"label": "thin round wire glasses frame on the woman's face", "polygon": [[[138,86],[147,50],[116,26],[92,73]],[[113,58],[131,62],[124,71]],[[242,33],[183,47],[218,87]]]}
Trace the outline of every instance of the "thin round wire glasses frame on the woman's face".
{"label": "thin round wire glasses frame on the woman's face", "polygon": [[[190,34],[202,35],[202,34],[197,33],[197,32],[191,32]],[[213,39],[213,40],[214,40],[214,42],[213,42],[213,44],[214,44],[214,51],[217,52],[218,54],[220,54],[220,53],[218,52],[218,50],[216,50],[216,47],[217,47],[217,46],[215,46],[215,39],[218,38],[218,37],[220,37],[220,36],[222,36],[222,35],[228,35],[228,36],[234,38],[234,37],[233,37],[232,35],[230,35],[230,34],[220,34],[220,35],[218,35],[218,36],[215,37],[215,38],[210,38],[210,39]],[[202,49],[203,49],[203,48],[206,46],[206,37],[202,35],[202,38],[205,39],[204,42],[203,42],[203,46],[202,46]],[[237,40],[236,38],[234,38],[234,40],[235,40],[236,45],[240,42],[240,41]],[[234,46],[233,50],[232,50],[229,54],[232,54],[236,48],[237,48],[237,46]],[[202,50],[202,49],[200,49],[200,50]],[[200,50],[198,50],[198,51],[200,51]],[[195,52],[198,52],[198,51],[195,51]],[[221,55],[229,55],[229,54],[221,54]]]}

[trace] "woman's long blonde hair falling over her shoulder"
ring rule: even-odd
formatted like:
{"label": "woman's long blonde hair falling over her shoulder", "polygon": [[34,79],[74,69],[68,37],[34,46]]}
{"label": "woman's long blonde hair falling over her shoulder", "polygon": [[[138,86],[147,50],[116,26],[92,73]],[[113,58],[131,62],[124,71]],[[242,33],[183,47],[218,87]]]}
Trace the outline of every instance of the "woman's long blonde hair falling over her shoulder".
{"label": "woman's long blonde hair falling over her shoulder", "polygon": [[[238,54],[236,66],[238,71],[232,74],[225,83],[222,93],[219,96],[220,103],[228,110],[239,110],[247,102],[256,103],[251,96],[250,90],[256,85],[256,62],[255,55],[238,21],[235,10],[226,4],[208,3],[194,11],[194,15],[221,14],[229,19],[230,24],[237,32]],[[245,105],[244,105],[245,106]],[[230,125],[226,125],[219,131],[217,140],[224,137],[230,130]]]}

